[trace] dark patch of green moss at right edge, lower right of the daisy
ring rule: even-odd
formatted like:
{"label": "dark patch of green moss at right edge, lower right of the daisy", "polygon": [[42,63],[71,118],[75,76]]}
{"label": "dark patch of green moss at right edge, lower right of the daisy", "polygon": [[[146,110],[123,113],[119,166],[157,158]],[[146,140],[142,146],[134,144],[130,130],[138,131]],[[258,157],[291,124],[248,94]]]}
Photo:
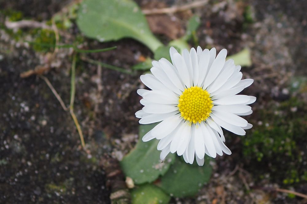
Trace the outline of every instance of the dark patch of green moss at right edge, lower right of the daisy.
{"label": "dark patch of green moss at right edge, lower right of the daisy", "polygon": [[307,107],[298,98],[268,107],[258,112],[262,124],[241,140],[246,168],[284,185],[306,181]]}

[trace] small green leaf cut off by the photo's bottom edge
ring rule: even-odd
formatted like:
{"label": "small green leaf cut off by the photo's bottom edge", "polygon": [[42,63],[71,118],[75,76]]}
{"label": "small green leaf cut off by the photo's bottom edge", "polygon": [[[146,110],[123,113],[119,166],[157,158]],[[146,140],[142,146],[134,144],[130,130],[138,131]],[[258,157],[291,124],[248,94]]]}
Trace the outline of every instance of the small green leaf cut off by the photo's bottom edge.
{"label": "small green leaf cut off by the photo's bottom edge", "polygon": [[159,187],[153,184],[143,185],[131,192],[132,204],[167,204],[170,196],[166,195]]}

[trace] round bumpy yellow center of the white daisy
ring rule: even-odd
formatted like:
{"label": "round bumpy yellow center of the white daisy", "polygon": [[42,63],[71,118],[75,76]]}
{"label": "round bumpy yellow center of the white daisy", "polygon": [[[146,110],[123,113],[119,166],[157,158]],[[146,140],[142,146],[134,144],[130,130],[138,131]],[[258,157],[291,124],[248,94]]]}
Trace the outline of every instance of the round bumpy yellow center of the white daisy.
{"label": "round bumpy yellow center of the white daisy", "polygon": [[178,103],[181,117],[193,123],[206,120],[211,113],[212,106],[208,91],[197,86],[186,88]]}

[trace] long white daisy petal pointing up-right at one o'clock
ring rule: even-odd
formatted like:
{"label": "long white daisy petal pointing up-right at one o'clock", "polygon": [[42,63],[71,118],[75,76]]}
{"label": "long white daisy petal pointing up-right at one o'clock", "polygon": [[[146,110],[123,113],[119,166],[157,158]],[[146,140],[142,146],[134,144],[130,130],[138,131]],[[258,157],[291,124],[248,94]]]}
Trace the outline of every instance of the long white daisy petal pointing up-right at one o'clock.
{"label": "long white daisy petal pointing up-right at one o'clock", "polygon": [[220,71],[222,70],[225,59],[227,55],[227,50],[223,49],[220,53],[216,56],[216,59],[213,61],[210,69],[208,70],[208,74],[204,81],[204,87],[207,88],[219,75]]}

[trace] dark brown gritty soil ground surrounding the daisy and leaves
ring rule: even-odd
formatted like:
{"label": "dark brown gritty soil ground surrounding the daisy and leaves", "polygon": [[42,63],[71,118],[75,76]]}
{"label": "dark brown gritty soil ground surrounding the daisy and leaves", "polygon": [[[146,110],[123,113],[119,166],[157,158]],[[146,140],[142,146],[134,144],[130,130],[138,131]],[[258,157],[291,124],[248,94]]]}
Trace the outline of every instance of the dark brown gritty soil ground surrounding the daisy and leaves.
{"label": "dark brown gritty soil ground surrounding the daisy and leaves", "polygon": [[[20,11],[23,19],[49,20],[69,1],[60,0],[0,0],[0,9]],[[188,1],[136,1],[142,8],[181,5]],[[248,21],[246,7],[249,6]],[[244,9],[243,9],[244,8]],[[235,54],[244,47],[252,53],[253,65],[243,68],[245,78],[253,78],[246,93],[258,100],[254,114],[247,117],[253,124],[262,121],[261,111],[268,104],[278,104],[295,95],[290,85],[296,77],[307,75],[307,2],[290,1],[220,1],[208,6],[177,13],[162,19],[175,19],[171,26],[175,37],[184,33],[192,13],[201,16],[197,32],[199,45],[227,48]],[[141,109],[138,88],[142,72],[134,75],[98,68],[80,58],[76,66],[76,97],[74,110],[85,137],[83,151],[76,126],[64,111],[47,84],[39,76],[21,78],[20,74],[48,61],[46,53],[33,50],[16,39],[4,26],[6,16],[0,15],[0,203],[110,203],[106,186],[104,154],[121,159],[137,141],[138,119],[134,113]],[[19,19],[20,20],[20,19]],[[152,24],[155,19],[150,19]],[[151,25],[152,26],[152,25]],[[174,27],[175,26],[175,27]],[[24,29],[22,32],[28,33]],[[76,26],[61,39],[71,43],[80,31]],[[156,31],[168,42],[174,35]],[[27,34],[25,34],[27,35]],[[23,36],[25,36],[23,35]],[[31,41],[31,35],[27,40]],[[130,70],[142,56],[153,57],[146,46],[132,39],[98,43],[84,39],[88,49],[117,46],[116,50],[87,54],[85,57]],[[191,42],[193,46],[193,42]],[[65,104],[70,98],[69,50],[60,49],[47,77]],[[306,91],[295,95],[306,104]],[[171,203],[307,203],[306,199],[266,189],[284,187],[307,193],[307,184],[285,185],[259,177],[248,168],[242,155],[241,139],[228,136],[231,156],[216,159],[209,184],[196,198],[175,199]],[[306,143],[298,143],[307,155]],[[301,145],[301,146],[300,146]],[[303,160],[304,161],[304,160]],[[306,164],[305,164],[306,167]],[[260,166],[259,169],[270,169]],[[273,175],[274,176],[274,175]]]}

